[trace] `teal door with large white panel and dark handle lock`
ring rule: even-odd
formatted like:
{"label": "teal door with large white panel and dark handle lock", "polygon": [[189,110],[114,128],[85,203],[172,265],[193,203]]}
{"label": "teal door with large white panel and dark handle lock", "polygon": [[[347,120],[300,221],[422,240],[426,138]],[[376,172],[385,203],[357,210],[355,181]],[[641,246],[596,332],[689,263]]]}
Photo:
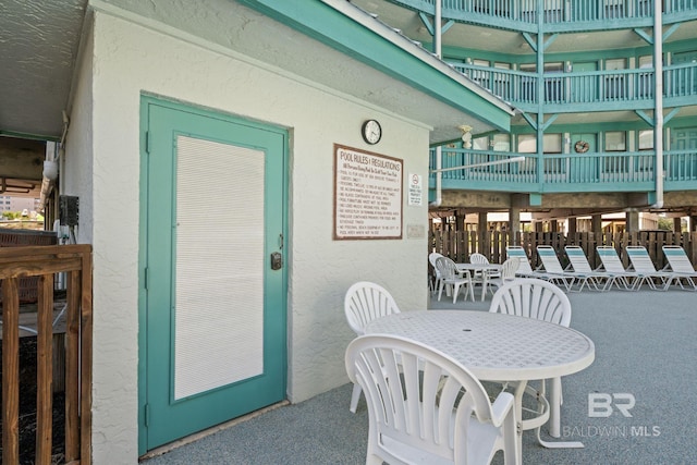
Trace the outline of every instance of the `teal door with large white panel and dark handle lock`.
{"label": "teal door with large white panel and dark handle lock", "polygon": [[149,97],[142,130],[145,453],[285,399],[288,136]]}

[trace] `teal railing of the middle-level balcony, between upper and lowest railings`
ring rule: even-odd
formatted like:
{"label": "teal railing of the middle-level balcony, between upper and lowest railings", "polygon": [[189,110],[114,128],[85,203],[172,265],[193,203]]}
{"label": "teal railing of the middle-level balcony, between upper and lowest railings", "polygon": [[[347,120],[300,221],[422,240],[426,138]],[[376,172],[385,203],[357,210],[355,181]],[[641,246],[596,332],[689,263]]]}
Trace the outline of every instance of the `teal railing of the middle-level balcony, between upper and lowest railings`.
{"label": "teal railing of the middle-level balcony, between upper and lowest railings", "polygon": [[[537,73],[454,63],[453,68],[523,111],[537,111]],[[541,102],[548,113],[651,109],[652,69],[550,73],[541,76]],[[663,103],[697,105],[697,63],[663,68]]]}

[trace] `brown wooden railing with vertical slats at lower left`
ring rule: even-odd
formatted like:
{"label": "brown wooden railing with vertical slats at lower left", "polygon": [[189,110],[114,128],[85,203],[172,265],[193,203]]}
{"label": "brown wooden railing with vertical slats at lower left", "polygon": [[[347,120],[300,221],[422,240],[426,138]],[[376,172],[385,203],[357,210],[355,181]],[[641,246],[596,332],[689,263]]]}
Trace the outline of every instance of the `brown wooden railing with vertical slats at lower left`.
{"label": "brown wooden railing with vertical slats at lower left", "polygon": [[0,248],[2,463],[20,463],[20,279],[37,277],[37,400],[34,463],[51,464],[53,278],[66,273],[65,463],[91,462],[91,246]]}

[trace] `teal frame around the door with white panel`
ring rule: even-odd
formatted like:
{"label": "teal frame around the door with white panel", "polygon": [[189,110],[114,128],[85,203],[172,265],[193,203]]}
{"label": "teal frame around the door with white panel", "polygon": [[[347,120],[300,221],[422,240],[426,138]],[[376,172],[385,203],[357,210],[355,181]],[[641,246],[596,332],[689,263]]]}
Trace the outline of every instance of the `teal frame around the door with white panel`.
{"label": "teal frame around the door with white panel", "polygon": [[[147,189],[149,186],[148,181],[148,129],[149,129],[149,108],[152,105],[157,105],[159,107],[166,107],[175,111],[184,111],[188,113],[194,113],[200,117],[210,117],[219,120],[228,121],[230,123],[243,124],[246,126],[252,126],[254,129],[259,129],[264,131],[270,131],[273,133],[283,135],[283,156],[282,156],[282,172],[283,172],[283,199],[282,199],[282,234],[284,242],[284,249],[290,250],[290,241],[289,241],[289,206],[290,206],[290,195],[289,195],[289,134],[288,130],[282,126],[264,124],[259,123],[255,120],[248,120],[242,117],[234,115],[224,111],[217,111],[209,108],[204,108],[194,103],[182,102],[181,100],[168,99],[161,96],[155,96],[147,93],[140,94],[140,109],[139,109],[139,157],[140,157],[140,181],[139,181],[139,228],[138,228],[138,455],[143,455],[148,452],[147,445],[147,412],[146,405],[148,401],[147,396],[147,341],[148,341],[148,329],[147,329],[147,219],[148,219],[148,195]],[[266,206],[265,206],[266,208]],[[280,321],[285,331],[283,332],[284,338],[288,340],[288,276],[289,276],[289,265],[290,265],[290,254],[285,253],[284,255],[284,264],[281,270],[274,272],[281,272],[281,295],[282,307],[284,311],[282,313],[283,321]],[[283,344],[284,347],[288,347],[288,342]],[[288,388],[288,357],[289,352],[285,348],[283,354],[283,392],[286,392]]]}

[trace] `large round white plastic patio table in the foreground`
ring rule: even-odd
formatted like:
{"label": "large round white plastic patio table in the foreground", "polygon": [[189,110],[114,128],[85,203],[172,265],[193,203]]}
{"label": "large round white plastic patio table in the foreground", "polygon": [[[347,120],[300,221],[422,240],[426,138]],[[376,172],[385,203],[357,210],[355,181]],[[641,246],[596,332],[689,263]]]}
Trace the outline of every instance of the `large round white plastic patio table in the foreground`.
{"label": "large round white plastic patio table in the foreground", "polygon": [[[560,436],[555,417],[559,409],[554,408],[560,393],[554,389],[550,390],[551,413],[548,408],[546,415],[523,420],[522,402],[527,381],[571,375],[595,359],[592,341],[576,330],[488,311],[403,311],[376,319],[366,327],[366,333],[396,334],[428,344],[455,358],[482,381],[515,381],[518,451],[523,430],[538,428],[550,415],[550,435]],[[579,442],[540,440],[540,443],[548,448],[583,448]]]}

